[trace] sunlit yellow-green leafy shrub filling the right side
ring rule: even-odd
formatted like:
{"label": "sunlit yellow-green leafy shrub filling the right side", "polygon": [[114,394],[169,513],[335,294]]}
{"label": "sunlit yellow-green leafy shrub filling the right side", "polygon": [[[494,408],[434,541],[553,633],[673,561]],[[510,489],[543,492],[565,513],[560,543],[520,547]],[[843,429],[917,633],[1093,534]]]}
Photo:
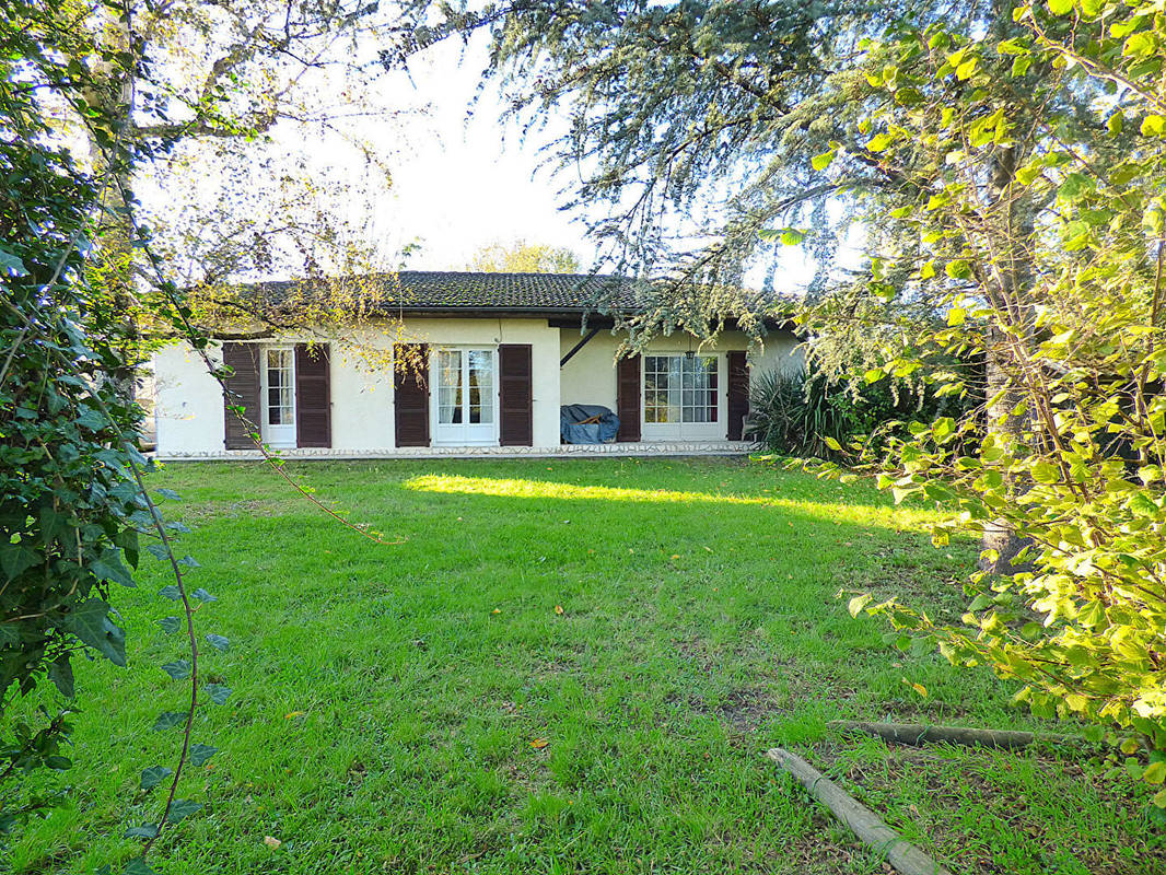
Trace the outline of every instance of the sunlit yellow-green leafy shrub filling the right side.
{"label": "sunlit yellow-green leafy shrub filling the right side", "polygon": [[[886,459],[854,447],[895,497],[951,509],[953,532],[1005,528],[1027,546],[968,586],[969,628],[897,602],[866,607],[1026,686],[1040,715],[1132,729],[1126,768],[1166,778],[1166,20],[1154,4],[1016,9],[1012,33],[904,28],[866,55],[868,148],[911,196],[885,222],[865,288],[935,301],[946,324],[884,345],[869,380],[921,372],[943,394],[983,354],[986,432],[916,422]],[[1040,71],[1033,88],[1031,71]],[[1021,86],[1024,83],[1024,86]],[[1069,96],[1091,100],[1074,111]],[[905,243],[905,242],[911,242]],[[837,310],[817,314],[829,326]],[[968,452],[967,443],[975,448]],[[831,469],[827,469],[828,471]],[[998,556],[985,552],[995,565]],[[1166,791],[1154,802],[1166,807]]]}

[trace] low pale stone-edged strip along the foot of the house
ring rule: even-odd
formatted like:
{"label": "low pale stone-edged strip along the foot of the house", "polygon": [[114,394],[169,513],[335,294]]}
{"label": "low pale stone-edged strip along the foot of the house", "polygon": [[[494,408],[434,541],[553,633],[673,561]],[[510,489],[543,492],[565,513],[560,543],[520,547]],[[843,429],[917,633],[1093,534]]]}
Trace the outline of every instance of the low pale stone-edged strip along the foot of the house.
{"label": "low pale stone-edged strip along the foot of the house", "polygon": [[[757,444],[751,441],[642,441],[639,443],[564,443],[559,447],[394,447],[389,449],[336,450],[283,449],[287,460],[356,459],[609,459],[621,456],[740,456]],[[188,455],[160,454],[160,462],[211,462],[260,460],[259,450],[222,450]]]}

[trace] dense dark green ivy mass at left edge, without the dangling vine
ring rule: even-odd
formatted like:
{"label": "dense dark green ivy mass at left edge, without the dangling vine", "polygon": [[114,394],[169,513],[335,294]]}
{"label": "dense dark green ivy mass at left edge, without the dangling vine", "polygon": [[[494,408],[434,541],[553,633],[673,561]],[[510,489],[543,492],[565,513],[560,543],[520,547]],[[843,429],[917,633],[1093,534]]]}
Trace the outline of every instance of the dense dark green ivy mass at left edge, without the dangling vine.
{"label": "dense dark green ivy mass at left edge, without the dangling vine", "polygon": [[[3,56],[35,58],[50,76],[65,77],[36,36],[35,29],[5,28]],[[119,363],[118,327],[84,309],[98,192],[65,152],[43,141],[19,65],[3,74],[0,718],[14,696],[44,681],[72,698],[78,651],[126,664],[110,589],[133,586],[142,525],[129,460],[115,449],[122,434],[135,433],[139,411],[106,379]],[[58,754],[69,730],[65,713],[45,707],[40,727],[3,726],[0,783],[68,765]],[[3,799],[12,797],[5,792]],[[0,807],[0,818],[14,813]]]}

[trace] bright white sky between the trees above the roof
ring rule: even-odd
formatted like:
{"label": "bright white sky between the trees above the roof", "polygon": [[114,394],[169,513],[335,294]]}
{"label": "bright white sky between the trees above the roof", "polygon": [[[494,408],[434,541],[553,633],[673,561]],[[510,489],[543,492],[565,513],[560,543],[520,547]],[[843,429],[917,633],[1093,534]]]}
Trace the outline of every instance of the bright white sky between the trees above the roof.
{"label": "bright white sky between the trees above the roof", "polygon": [[[326,76],[311,83],[316,104],[345,118],[339,123],[345,135],[387,167],[388,187],[377,184],[381,175],[360,149],[324,128],[280,123],[272,132],[274,141],[264,147],[276,156],[276,168],[281,161],[307,160],[308,175],[325,192],[328,209],[346,211],[350,223],[374,243],[378,268],[464,270],[480,249],[518,240],[568,249],[584,271],[597,262],[580,217],[560,209],[559,189],[573,180],[540,167],[540,148],[566,130],[566,119],[552,117],[525,139],[518,121],[500,121],[496,86],[487,83],[479,91],[486,49],[485,34],[469,47],[438,44],[414,58],[408,72],[381,75],[363,93]],[[393,114],[377,114],[381,110]],[[237,182],[241,177],[227,177],[216,187],[213,159],[204,161],[203,172],[205,177],[196,172],[178,181],[142,180],[138,190],[147,205],[166,212],[181,202],[178,182],[188,187],[187,197],[204,204],[226,203],[232,186],[248,186],[246,180]],[[359,191],[361,187],[368,190]],[[252,191],[234,209],[273,208]],[[412,252],[402,260],[399,253],[406,249]],[[749,285],[763,285],[765,274],[765,266],[758,265]],[[793,292],[810,276],[812,266],[792,250],[782,258],[777,286]]]}

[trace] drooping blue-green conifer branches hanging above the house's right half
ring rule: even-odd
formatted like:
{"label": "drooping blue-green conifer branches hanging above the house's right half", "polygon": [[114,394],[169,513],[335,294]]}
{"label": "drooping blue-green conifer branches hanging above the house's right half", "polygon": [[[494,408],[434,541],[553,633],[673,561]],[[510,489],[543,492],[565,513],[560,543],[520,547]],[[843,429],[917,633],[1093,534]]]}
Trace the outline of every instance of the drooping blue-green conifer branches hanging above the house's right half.
{"label": "drooping blue-green conifer branches hanging above the house's right half", "polygon": [[[744,309],[735,315],[749,324],[749,310],[766,304],[733,301],[730,289],[759,262],[771,265],[770,284],[780,282],[773,265],[791,228],[813,228],[806,245],[823,290],[842,239],[838,211],[855,217],[840,195],[900,184],[863,147],[862,41],[908,21],[975,30],[1007,13],[990,2],[911,0],[534,0],[448,13],[384,58],[487,28],[491,71],[513,113],[535,128],[549,113],[571,121],[550,146],[564,170],[564,205],[590,218],[612,265],[672,280],[656,322],[704,334],[726,308]],[[844,158],[815,167],[838,142],[851,147]]]}

